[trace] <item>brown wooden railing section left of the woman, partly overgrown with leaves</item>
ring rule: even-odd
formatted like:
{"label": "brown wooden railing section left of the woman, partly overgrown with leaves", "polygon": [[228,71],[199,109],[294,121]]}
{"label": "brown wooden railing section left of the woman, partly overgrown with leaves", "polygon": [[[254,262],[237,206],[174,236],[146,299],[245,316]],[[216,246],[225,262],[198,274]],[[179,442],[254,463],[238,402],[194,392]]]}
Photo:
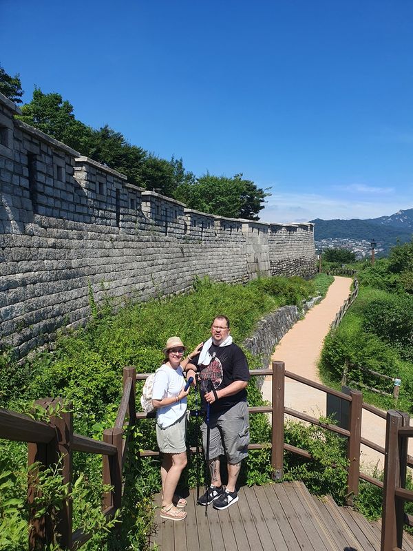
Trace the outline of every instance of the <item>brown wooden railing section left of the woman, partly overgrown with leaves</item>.
{"label": "brown wooden railing section left of the woman, partly overgrown with leaves", "polygon": [[[112,486],[112,491],[103,495],[103,514],[112,517],[120,507],[122,499],[122,468],[125,461],[127,442],[123,440],[123,426],[129,411],[129,425],[136,422],[135,410],[136,369],[123,369],[123,396],[118,409],[115,426],[103,431],[103,440],[78,435],[73,432],[72,404],[63,404],[61,398],[46,398],[36,402],[44,408],[64,406],[59,415],[50,417],[48,424],[34,421],[27,415],[21,415],[0,408],[0,438],[28,442],[28,466],[39,463],[49,467],[59,461],[63,484],[72,487],[73,452],[85,452],[103,455],[103,484]],[[38,486],[38,473],[30,470],[28,480],[28,501],[33,503]],[[32,508],[29,532],[29,550],[43,549],[53,541],[53,532],[59,534],[59,545],[63,549],[76,550],[92,537],[91,533],[82,530],[73,532],[72,502],[63,501],[61,510],[57,512],[56,526],[52,526],[50,517],[35,518]]]}

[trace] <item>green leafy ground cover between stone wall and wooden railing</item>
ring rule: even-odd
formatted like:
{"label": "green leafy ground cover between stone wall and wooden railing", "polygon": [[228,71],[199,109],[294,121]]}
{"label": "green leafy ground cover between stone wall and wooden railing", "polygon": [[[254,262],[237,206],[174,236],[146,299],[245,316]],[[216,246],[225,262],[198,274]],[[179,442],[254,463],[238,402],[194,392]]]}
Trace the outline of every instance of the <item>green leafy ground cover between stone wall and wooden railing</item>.
{"label": "green leafy ground cover between stone wall and wooden railing", "polygon": [[[85,329],[62,331],[53,351],[36,355],[23,365],[13,361],[7,351],[0,356],[0,406],[27,411],[28,404],[40,397],[61,396],[73,402],[76,433],[100,438],[104,428],[114,424],[122,391],[124,366],[134,365],[139,373],[154,371],[162,362],[162,347],[168,337],[179,335],[189,349],[204,340],[215,315],[224,313],[231,320],[231,334],[235,342],[253,333],[260,318],[285,304],[301,304],[310,296],[326,293],[332,278],[321,275],[312,281],[301,278],[260,278],[244,286],[213,284],[208,279],[195,281],[195,290],[189,295],[152,300],[145,304],[129,304],[116,315],[109,302],[100,306],[91,297],[93,319]],[[260,358],[248,355],[250,368]],[[137,389],[139,396],[140,389]],[[194,395],[189,395],[189,406],[194,406]],[[263,405],[261,393],[254,380],[248,385],[248,402]],[[271,440],[271,428],[265,415],[251,415],[251,441],[266,443]],[[299,436],[299,428],[286,431],[289,441]],[[317,429],[319,431],[319,429]],[[317,432],[316,431],[316,432]],[[189,424],[189,445],[195,445],[196,419]],[[322,433],[322,435],[321,435]],[[328,482],[335,486],[337,497],[343,496],[345,461],[340,446],[332,446],[330,436],[322,430],[314,435],[312,453],[319,457],[313,464],[288,460],[287,473],[308,481],[315,492],[324,492]],[[290,436],[288,436],[290,434]],[[301,434],[301,439],[311,437]],[[156,449],[153,420],[145,419],[134,429],[134,437],[127,459],[125,497],[118,515],[116,535],[103,529],[100,514],[100,457],[74,454],[76,484],[73,489],[74,528],[96,529],[85,550],[143,550],[147,544],[153,508],[150,496],[160,489],[158,459],[141,459],[139,448]],[[303,445],[302,447],[305,447]],[[328,450],[323,459],[322,450]],[[25,530],[28,506],[25,503],[27,470],[24,444],[0,441],[0,550],[19,551],[27,547]],[[326,466],[335,464],[333,471]],[[4,474],[6,473],[6,475]],[[201,469],[200,483],[203,484]],[[271,479],[269,448],[251,451],[245,462],[240,482],[264,484]],[[50,514],[68,495],[61,488],[59,472],[56,477],[45,477],[48,501],[42,503]],[[183,487],[196,484],[195,458],[189,457],[189,466],[182,476]],[[330,484],[331,488],[331,484]],[[331,491],[331,490],[328,490]],[[65,493],[66,492],[66,493]]]}

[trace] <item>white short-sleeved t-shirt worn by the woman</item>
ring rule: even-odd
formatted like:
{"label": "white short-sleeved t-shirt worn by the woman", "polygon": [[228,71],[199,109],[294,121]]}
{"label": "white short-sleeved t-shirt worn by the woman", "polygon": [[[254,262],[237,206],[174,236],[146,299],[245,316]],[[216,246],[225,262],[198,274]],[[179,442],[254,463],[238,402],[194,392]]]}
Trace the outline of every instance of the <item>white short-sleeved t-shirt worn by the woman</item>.
{"label": "white short-sleeved t-shirt worn by the woman", "polygon": [[[153,380],[152,399],[162,400],[178,396],[184,386],[184,372],[181,366],[173,367],[163,364],[155,373]],[[178,421],[187,410],[187,397],[182,398],[180,402],[175,402],[169,406],[163,406],[156,410],[156,422],[160,428],[167,428]]]}

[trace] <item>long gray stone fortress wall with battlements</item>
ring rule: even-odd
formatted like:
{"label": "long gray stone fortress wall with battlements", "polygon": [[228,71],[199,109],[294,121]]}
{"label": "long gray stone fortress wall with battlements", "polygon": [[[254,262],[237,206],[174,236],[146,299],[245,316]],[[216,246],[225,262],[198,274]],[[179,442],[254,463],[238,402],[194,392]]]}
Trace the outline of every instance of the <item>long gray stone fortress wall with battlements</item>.
{"label": "long gray stone fortress wall with battlements", "polygon": [[240,283],[312,275],[313,225],[204,214],[131,185],[14,119],[0,94],[1,343],[23,356],[84,324],[89,290],[125,299],[191,289],[195,275]]}

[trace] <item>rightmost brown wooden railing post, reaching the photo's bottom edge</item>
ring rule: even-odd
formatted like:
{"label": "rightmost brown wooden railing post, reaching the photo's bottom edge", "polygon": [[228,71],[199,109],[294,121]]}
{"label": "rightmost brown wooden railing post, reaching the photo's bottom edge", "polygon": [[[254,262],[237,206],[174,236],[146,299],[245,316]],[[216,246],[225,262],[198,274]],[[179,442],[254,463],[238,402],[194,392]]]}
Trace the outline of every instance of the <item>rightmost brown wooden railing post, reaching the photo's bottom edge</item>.
{"label": "rightmost brown wooden railing post, reaching the photo's bottom edge", "polygon": [[399,428],[403,417],[389,410],[385,425],[383,508],[381,513],[381,551],[392,551],[397,545],[396,499],[394,489],[400,486]]}

